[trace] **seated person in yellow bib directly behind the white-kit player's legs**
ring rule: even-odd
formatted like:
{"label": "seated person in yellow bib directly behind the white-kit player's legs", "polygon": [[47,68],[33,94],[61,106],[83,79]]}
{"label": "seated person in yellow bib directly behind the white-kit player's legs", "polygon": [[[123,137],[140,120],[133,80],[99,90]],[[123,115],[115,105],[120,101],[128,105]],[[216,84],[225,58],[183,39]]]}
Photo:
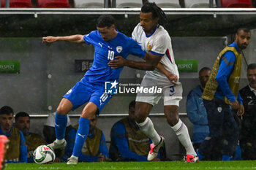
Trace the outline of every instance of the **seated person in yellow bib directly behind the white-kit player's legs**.
{"label": "seated person in yellow bib directly behind the white-kit player's legs", "polygon": [[[129,115],[113,125],[110,137],[109,155],[112,161],[148,161],[147,155],[152,141],[135,123],[135,100],[129,103]],[[163,145],[154,161],[166,160]]]}

